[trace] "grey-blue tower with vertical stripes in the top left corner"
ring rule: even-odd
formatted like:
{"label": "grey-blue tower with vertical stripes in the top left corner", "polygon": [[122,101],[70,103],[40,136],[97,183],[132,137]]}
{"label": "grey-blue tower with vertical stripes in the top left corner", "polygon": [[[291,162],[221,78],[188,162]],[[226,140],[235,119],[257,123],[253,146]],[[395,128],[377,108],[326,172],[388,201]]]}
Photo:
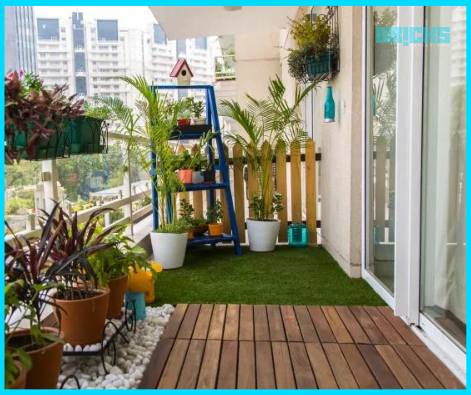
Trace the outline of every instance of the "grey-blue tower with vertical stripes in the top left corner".
{"label": "grey-blue tower with vertical stripes in the top left corner", "polygon": [[37,73],[33,6],[5,6],[5,72]]}

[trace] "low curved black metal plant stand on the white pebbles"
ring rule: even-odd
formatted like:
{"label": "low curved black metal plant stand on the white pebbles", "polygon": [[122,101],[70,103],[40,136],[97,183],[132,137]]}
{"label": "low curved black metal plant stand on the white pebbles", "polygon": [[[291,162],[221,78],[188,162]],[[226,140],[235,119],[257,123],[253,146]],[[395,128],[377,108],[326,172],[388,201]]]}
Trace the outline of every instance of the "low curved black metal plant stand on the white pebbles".
{"label": "low curved black metal plant stand on the white pebbles", "polygon": [[[87,351],[64,351],[64,356],[77,356],[77,357],[87,357],[87,356],[100,356],[101,363],[103,365],[103,370],[105,374],[108,374],[109,371],[106,368],[105,355],[113,357],[112,365],[116,364],[116,339],[121,337],[126,343],[129,343],[129,339],[124,335],[123,331],[126,329],[128,332],[136,333],[137,320],[136,320],[136,304],[133,300],[129,300],[126,304],[125,314],[121,318],[121,324],[116,325],[113,321],[108,320],[103,327],[100,348],[98,350],[87,350]],[[111,335],[106,334],[106,330],[111,327],[114,329]],[[63,384],[70,377],[66,377]]]}

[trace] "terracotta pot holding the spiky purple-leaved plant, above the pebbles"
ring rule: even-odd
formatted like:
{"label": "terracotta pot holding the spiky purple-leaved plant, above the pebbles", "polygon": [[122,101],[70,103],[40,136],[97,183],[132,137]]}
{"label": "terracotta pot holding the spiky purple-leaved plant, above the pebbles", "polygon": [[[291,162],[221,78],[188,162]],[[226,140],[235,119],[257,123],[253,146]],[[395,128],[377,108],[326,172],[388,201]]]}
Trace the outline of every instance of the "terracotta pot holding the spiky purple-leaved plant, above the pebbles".
{"label": "terracotta pot holding the spiky purple-leaved plant, above the pebbles", "polygon": [[[105,325],[110,290],[98,287],[98,295],[77,300],[54,299],[60,311],[64,339],[74,347],[101,342]],[[55,309],[56,317],[58,311]]]}

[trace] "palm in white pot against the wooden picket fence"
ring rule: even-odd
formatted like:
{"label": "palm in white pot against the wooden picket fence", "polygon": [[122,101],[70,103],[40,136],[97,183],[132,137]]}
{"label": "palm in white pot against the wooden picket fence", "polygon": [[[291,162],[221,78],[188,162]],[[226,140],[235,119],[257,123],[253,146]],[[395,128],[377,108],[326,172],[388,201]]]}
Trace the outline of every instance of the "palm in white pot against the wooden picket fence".
{"label": "palm in white pot against the wooden picket fence", "polygon": [[[271,166],[279,144],[290,146],[295,139],[300,142],[306,139],[299,107],[313,88],[313,84],[303,90],[297,86],[294,101],[288,103],[284,98],[285,86],[277,76],[276,79],[270,80],[267,99],[259,100],[246,95],[246,108],[233,100],[222,100],[219,103],[219,115],[239,122],[246,132],[228,133],[228,143],[240,144],[251,171],[260,174],[258,191],[250,196],[253,217],[247,220],[252,251],[275,249],[280,223],[273,216],[283,207],[281,195],[273,190],[273,172],[263,171],[263,168]],[[244,164],[241,162],[234,165]]]}

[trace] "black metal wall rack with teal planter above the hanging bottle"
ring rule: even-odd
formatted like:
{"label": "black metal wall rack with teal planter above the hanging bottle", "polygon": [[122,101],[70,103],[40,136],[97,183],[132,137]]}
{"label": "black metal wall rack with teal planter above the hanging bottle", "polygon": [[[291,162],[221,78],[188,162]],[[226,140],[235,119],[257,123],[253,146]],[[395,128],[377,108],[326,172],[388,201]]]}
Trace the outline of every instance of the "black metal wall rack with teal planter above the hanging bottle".
{"label": "black metal wall rack with teal planter above the hanging bottle", "polygon": [[306,56],[306,73],[310,82],[327,81],[340,71],[339,10],[338,6],[327,6],[326,14],[315,17],[313,9],[311,23],[319,19],[320,28],[328,26],[330,40],[328,48]]}

